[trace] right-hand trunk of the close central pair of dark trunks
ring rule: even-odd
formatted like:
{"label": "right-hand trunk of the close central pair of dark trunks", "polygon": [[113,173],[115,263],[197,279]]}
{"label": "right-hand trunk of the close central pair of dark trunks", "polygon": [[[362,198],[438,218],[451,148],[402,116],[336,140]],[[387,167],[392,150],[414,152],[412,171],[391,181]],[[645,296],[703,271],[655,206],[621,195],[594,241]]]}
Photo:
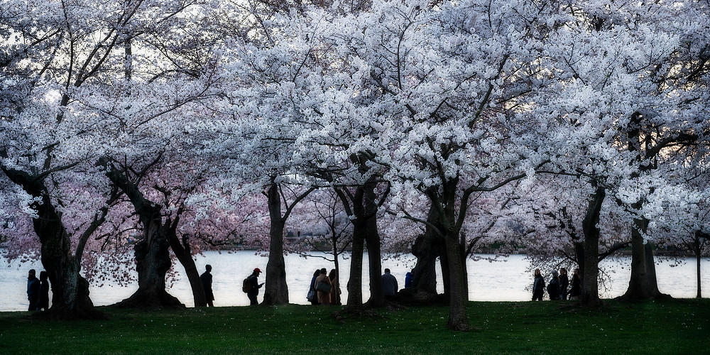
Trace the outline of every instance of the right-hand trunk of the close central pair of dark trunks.
{"label": "right-hand trunk of the close central pair of dark trunks", "polygon": [[364,212],[365,212],[365,241],[367,243],[367,256],[370,275],[370,300],[371,307],[381,307],[385,304],[382,288],[382,253],[380,250],[380,234],[377,230],[377,204],[375,202],[375,184],[370,182],[364,185]]}

